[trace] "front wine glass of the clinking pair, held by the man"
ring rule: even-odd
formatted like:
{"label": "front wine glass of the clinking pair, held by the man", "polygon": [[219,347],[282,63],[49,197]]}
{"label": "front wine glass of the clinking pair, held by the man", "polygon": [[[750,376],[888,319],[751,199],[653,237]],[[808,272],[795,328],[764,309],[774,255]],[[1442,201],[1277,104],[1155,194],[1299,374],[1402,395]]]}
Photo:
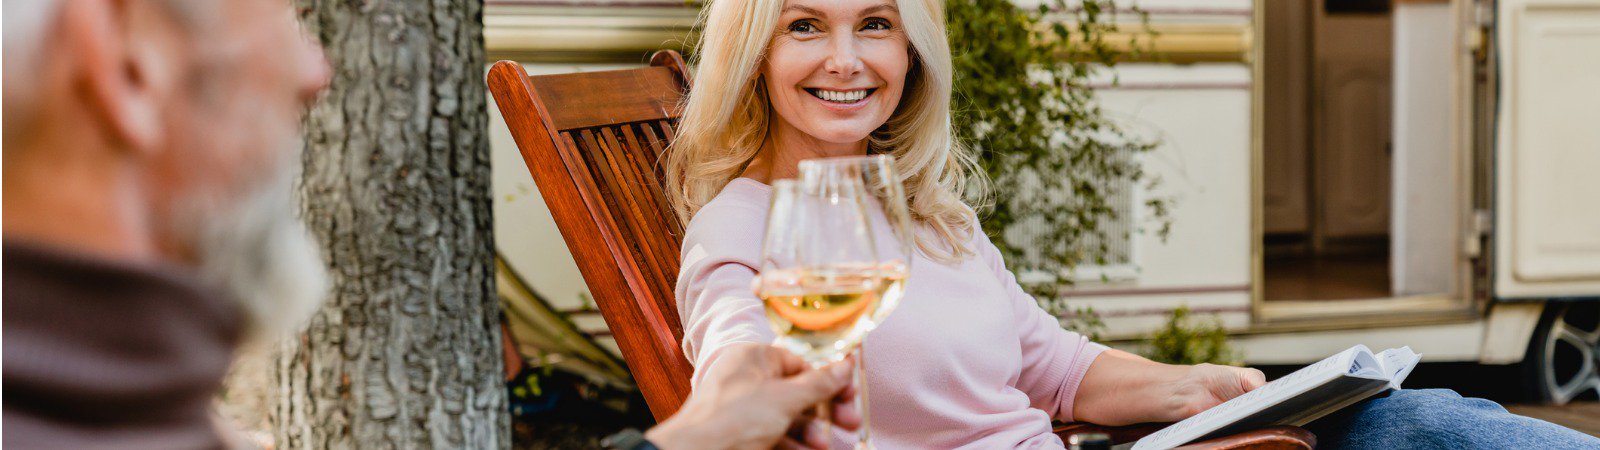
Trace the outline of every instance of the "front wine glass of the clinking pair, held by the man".
{"label": "front wine glass of the clinking pair, held by the man", "polygon": [[[880,317],[883,277],[854,178],[773,183],[757,295],[778,346],[822,367],[850,354]],[[818,405],[827,423],[830,405]]]}

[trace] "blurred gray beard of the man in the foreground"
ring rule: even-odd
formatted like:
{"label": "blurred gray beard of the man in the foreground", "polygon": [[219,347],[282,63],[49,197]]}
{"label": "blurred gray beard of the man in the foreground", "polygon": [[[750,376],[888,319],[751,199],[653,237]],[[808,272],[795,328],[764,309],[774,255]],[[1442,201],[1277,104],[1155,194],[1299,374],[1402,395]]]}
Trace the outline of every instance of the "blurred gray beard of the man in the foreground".
{"label": "blurred gray beard of the man in the foreground", "polygon": [[192,239],[202,279],[238,303],[251,340],[296,331],[328,288],[320,247],[296,216],[298,160],[286,162],[230,202],[194,199],[195,215],[186,218],[198,231]]}

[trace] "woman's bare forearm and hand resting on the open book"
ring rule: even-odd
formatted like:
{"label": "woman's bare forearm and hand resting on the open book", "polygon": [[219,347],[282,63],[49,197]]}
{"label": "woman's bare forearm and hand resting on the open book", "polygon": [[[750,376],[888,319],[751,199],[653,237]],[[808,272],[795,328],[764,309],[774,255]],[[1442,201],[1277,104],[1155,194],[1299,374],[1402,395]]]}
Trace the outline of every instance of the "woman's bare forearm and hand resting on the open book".
{"label": "woman's bare forearm and hand resting on the open book", "polygon": [[1083,375],[1072,418],[1106,426],[1179,421],[1266,383],[1254,368],[1171,365],[1109,349]]}

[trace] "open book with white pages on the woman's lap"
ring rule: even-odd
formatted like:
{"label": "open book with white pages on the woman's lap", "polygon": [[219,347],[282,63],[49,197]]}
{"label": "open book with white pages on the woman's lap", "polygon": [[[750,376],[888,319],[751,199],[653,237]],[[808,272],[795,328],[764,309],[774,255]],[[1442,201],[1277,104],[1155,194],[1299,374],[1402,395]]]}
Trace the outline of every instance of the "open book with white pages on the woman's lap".
{"label": "open book with white pages on the woman's lap", "polygon": [[1301,426],[1373,394],[1400,389],[1421,359],[1411,348],[1373,354],[1366,346],[1354,346],[1152,432],[1133,448],[1171,448],[1264,426]]}

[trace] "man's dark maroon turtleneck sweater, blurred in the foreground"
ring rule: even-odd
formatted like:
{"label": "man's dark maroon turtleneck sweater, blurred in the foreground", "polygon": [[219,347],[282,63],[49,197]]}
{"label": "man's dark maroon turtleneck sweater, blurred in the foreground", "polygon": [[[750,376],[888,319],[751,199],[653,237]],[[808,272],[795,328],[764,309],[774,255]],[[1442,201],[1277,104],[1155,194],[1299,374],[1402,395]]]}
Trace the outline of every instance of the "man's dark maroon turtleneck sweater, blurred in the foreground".
{"label": "man's dark maroon turtleneck sweater, blurred in the foreground", "polygon": [[5,448],[222,448],[242,319],[178,266],[3,245]]}

